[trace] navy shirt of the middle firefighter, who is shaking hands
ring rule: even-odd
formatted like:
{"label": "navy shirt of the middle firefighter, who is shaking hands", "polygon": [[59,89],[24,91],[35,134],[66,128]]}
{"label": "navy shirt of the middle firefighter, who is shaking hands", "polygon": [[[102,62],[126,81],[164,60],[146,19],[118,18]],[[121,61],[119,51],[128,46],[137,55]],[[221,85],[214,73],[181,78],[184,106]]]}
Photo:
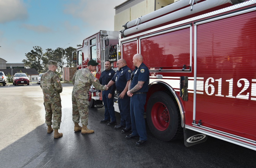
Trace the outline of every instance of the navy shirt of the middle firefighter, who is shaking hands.
{"label": "navy shirt of the middle firefighter, who is shaking hands", "polygon": [[131,78],[132,70],[126,66],[120,68],[119,71],[116,72],[114,77],[111,79],[115,82],[116,90],[118,92],[122,92],[126,86],[126,83]]}

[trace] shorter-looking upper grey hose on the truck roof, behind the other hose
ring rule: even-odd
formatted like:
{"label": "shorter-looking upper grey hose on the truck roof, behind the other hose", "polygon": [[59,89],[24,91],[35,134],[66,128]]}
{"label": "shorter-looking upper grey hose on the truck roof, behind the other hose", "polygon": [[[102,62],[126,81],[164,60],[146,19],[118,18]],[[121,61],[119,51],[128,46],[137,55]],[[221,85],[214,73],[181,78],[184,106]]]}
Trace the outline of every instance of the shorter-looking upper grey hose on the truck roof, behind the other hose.
{"label": "shorter-looking upper grey hose on the truck roof, behind the other hose", "polygon": [[[158,9],[154,12],[151,12],[149,14],[146,14],[146,15],[142,16],[140,18],[139,22],[144,23],[148,20],[151,20],[151,19],[157,18],[159,16],[165,15],[167,13],[170,13],[170,12],[174,11],[174,10],[181,9],[185,6],[189,6],[190,1],[191,0],[179,0],[175,3],[173,3],[173,4],[167,5],[163,8],[161,8],[161,9]],[[195,0],[195,3],[198,2],[198,1],[201,1],[201,0]],[[133,26],[136,26],[137,23],[138,23],[138,19],[134,19],[132,21],[129,21],[129,22],[125,23],[124,28],[129,29]]]}

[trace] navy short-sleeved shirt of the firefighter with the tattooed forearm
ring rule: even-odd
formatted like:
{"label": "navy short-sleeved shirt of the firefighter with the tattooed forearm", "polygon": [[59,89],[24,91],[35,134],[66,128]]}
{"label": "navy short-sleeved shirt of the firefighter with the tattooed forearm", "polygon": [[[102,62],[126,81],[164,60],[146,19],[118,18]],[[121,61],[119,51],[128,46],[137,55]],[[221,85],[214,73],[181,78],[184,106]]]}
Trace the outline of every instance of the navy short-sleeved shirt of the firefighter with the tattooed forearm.
{"label": "navy short-sleeved shirt of the firefighter with the tattooed forearm", "polygon": [[[149,84],[149,70],[148,67],[144,64],[141,63],[140,67],[136,67],[132,72],[134,74],[132,83],[131,83],[131,88],[134,88],[134,86],[137,85],[138,81],[144,81],[143,86],[140,90],[136,92],[147,92],[148,91],[148,84]],[[136,93],[134,92],[134,93]]]}

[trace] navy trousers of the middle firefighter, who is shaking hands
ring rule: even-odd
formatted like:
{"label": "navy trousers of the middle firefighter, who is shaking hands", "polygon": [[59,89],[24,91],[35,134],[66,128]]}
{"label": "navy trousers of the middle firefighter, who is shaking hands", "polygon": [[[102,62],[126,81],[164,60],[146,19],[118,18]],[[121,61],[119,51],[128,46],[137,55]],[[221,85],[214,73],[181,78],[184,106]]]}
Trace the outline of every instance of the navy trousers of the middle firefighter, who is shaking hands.
{"label": "navy trousers of the middle firefighter, who is shaking hands", "polygon": [[[118,94],[119,96],[120,94]],[[125,94],[124,98],[118,98],[118,107],[121,115],[120,125],[126,126],[126,128],[131,128],[131,116],[130,116],[130,97]]]}

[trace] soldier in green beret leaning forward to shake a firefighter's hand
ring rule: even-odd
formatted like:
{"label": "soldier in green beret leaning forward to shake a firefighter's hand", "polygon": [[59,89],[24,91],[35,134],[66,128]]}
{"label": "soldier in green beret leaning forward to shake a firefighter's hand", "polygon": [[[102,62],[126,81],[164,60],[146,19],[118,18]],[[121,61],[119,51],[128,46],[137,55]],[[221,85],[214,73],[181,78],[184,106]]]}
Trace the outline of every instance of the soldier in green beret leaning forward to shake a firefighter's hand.
{"label": "soldier in green beret leaning forward to shake a firefighter's hand", "polygon": [[[74,131],[80,131],[82,134],[94,133],[94,130],[87,128],[88,125],[88,92],[93,85],[98,90],[108,90],[100,84],[99,80],[91,73],[97,68],[97,63],[94,60],[88,62],[87,68],[79,69],[76,71],[72,78],[72,83],[74,85],[72,91],[72,119],[75,124]],[[79,126],[79,120],[81,118],[81,123],[83,127]]]}

